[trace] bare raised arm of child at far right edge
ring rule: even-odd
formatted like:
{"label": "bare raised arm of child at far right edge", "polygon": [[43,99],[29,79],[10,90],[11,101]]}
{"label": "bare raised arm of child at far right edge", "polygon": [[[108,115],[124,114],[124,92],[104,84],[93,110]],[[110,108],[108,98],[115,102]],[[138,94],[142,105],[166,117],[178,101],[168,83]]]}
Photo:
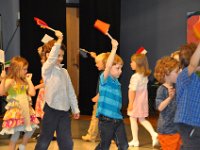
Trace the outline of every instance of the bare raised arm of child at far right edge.
{"label": "bare raised arm of child at far right edge", "polygon": [[190,59],[190,64],[188,66],[188,75],[190,76],[193,72],[196,71],[196,68],[199,65],[200,60],[200,43],[197,46],[197,49],[195,50],[194,54],[192,55]]}

